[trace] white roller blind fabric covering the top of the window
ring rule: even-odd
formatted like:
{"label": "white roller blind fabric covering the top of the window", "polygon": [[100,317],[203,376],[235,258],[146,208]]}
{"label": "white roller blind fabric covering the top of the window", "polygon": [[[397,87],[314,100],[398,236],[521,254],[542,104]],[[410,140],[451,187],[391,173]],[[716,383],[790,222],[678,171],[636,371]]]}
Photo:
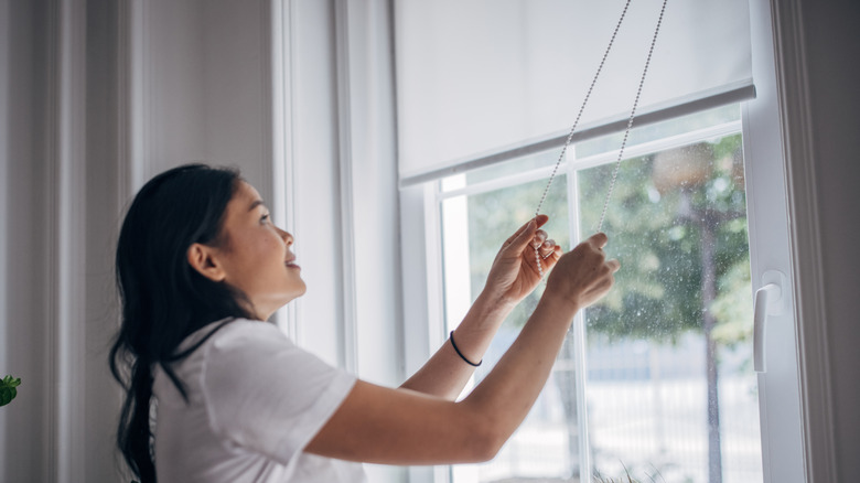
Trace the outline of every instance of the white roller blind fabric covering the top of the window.
{"label": "white roller blind fabric covering the top of the window", "polygon": [[[401,183],[563,136],[624,0],[396,0]],[[632,0],[580,127],[630,115],[662,0]],[[670,0],[638,112],[752,96],[746,0]],[[579,130],[579,129],[578,129]]]}

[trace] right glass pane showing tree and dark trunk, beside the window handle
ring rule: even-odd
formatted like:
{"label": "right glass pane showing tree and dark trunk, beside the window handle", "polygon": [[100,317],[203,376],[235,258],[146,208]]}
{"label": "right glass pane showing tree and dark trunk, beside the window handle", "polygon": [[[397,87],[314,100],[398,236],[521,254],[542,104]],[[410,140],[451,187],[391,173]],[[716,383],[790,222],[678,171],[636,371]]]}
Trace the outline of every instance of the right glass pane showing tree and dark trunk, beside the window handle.
{"label": "right glass pane showing tree and dark trunk, beside the window handle", "polygon": [[[578,173],[583,237],[613,169]],[[622,268],[584,314],[594,474],[762,481],[740,135],[623,161],[603,230]]]}

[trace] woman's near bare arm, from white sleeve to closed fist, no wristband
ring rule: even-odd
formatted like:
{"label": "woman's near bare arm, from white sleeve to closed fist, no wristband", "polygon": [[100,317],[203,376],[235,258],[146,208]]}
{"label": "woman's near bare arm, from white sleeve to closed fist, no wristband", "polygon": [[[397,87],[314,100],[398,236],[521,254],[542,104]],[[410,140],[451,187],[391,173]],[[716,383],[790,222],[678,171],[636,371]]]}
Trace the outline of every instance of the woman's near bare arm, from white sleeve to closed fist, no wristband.
{"label": "woman's near bare arm, from white sleeve to closed fist, no wristband", "polygon": [[605,235],[594,235],[558,259],[516,342],[465,399],[453,402],[359,380],[307,451],[388,464],[493,458],[546,384],[576,312],[612,287],[619,264],[605,260]]}

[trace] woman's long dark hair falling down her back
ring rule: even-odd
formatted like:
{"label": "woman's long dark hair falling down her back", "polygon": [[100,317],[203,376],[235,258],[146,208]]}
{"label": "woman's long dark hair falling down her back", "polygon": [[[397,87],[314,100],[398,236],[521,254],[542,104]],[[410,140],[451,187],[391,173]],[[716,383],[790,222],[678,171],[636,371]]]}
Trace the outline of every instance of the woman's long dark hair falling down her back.
{"label": "woman's long dark hair falling down her back", "polygon": [[110,371],[126,389],[117,446],[142,483],[155,482],[149,425],[152,371],[162,367],[187,400],[171,367],[194,331],[222,319],[251,318],[247,299],[187,262],[192,244],[225,246],[224,214],[240,181],[237,171],[187,164],[150,180],[135,196],[117,243],[122,323],[110,350]]}

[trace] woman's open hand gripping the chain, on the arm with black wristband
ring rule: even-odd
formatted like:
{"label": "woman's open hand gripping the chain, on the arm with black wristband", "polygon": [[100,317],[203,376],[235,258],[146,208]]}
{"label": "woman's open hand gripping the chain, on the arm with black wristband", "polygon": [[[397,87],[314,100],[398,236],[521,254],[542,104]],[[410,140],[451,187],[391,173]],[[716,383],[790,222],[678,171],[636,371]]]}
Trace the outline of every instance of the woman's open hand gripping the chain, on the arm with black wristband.
{"label": "woman's open hand gripping the chain, on the arm with black wristband", "polygon": [[484,293],[499,303],[515,304],[531,293],[540,282],[535,259],[535,247],[540,253],[540,265],[548,273],[561,257],[561,247],[547,233],[538,229],[547,223],[547,215],[537,217],[523,225],[498,250],[487,276]]}

